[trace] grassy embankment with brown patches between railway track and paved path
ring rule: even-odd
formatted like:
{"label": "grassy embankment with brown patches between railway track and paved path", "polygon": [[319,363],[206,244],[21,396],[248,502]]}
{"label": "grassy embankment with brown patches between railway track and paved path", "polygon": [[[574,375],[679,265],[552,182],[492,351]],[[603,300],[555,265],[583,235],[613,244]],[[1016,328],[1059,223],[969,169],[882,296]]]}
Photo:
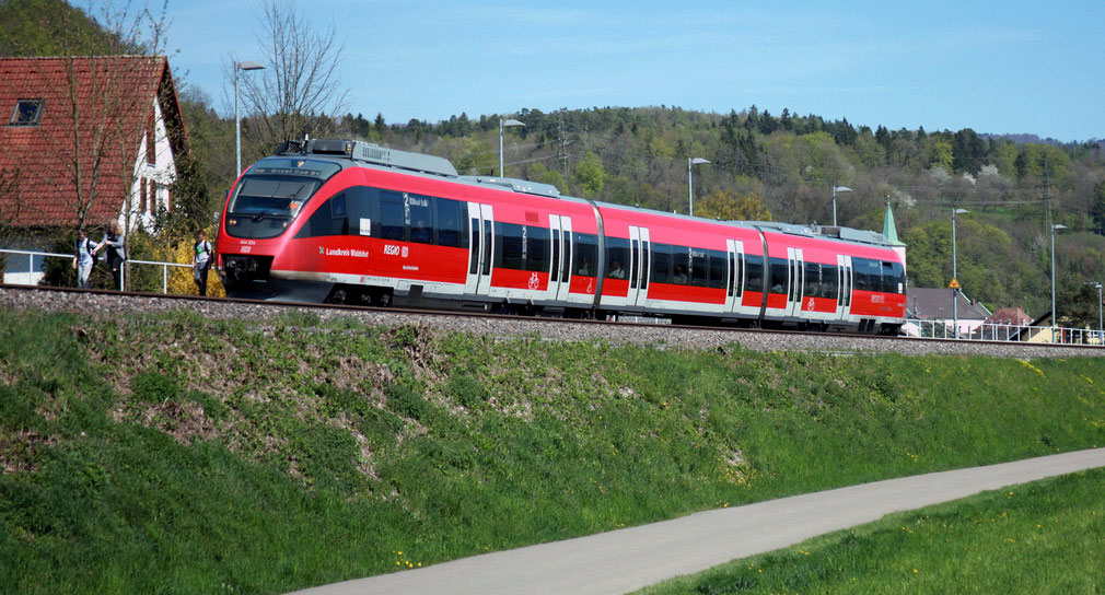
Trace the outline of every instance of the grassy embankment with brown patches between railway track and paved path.
{"label": "grassy embankment with brown patches between railway track and paved path", "polygon": [[0,592],[277,593],[1105,444],[1105,361],[0,311]]}

